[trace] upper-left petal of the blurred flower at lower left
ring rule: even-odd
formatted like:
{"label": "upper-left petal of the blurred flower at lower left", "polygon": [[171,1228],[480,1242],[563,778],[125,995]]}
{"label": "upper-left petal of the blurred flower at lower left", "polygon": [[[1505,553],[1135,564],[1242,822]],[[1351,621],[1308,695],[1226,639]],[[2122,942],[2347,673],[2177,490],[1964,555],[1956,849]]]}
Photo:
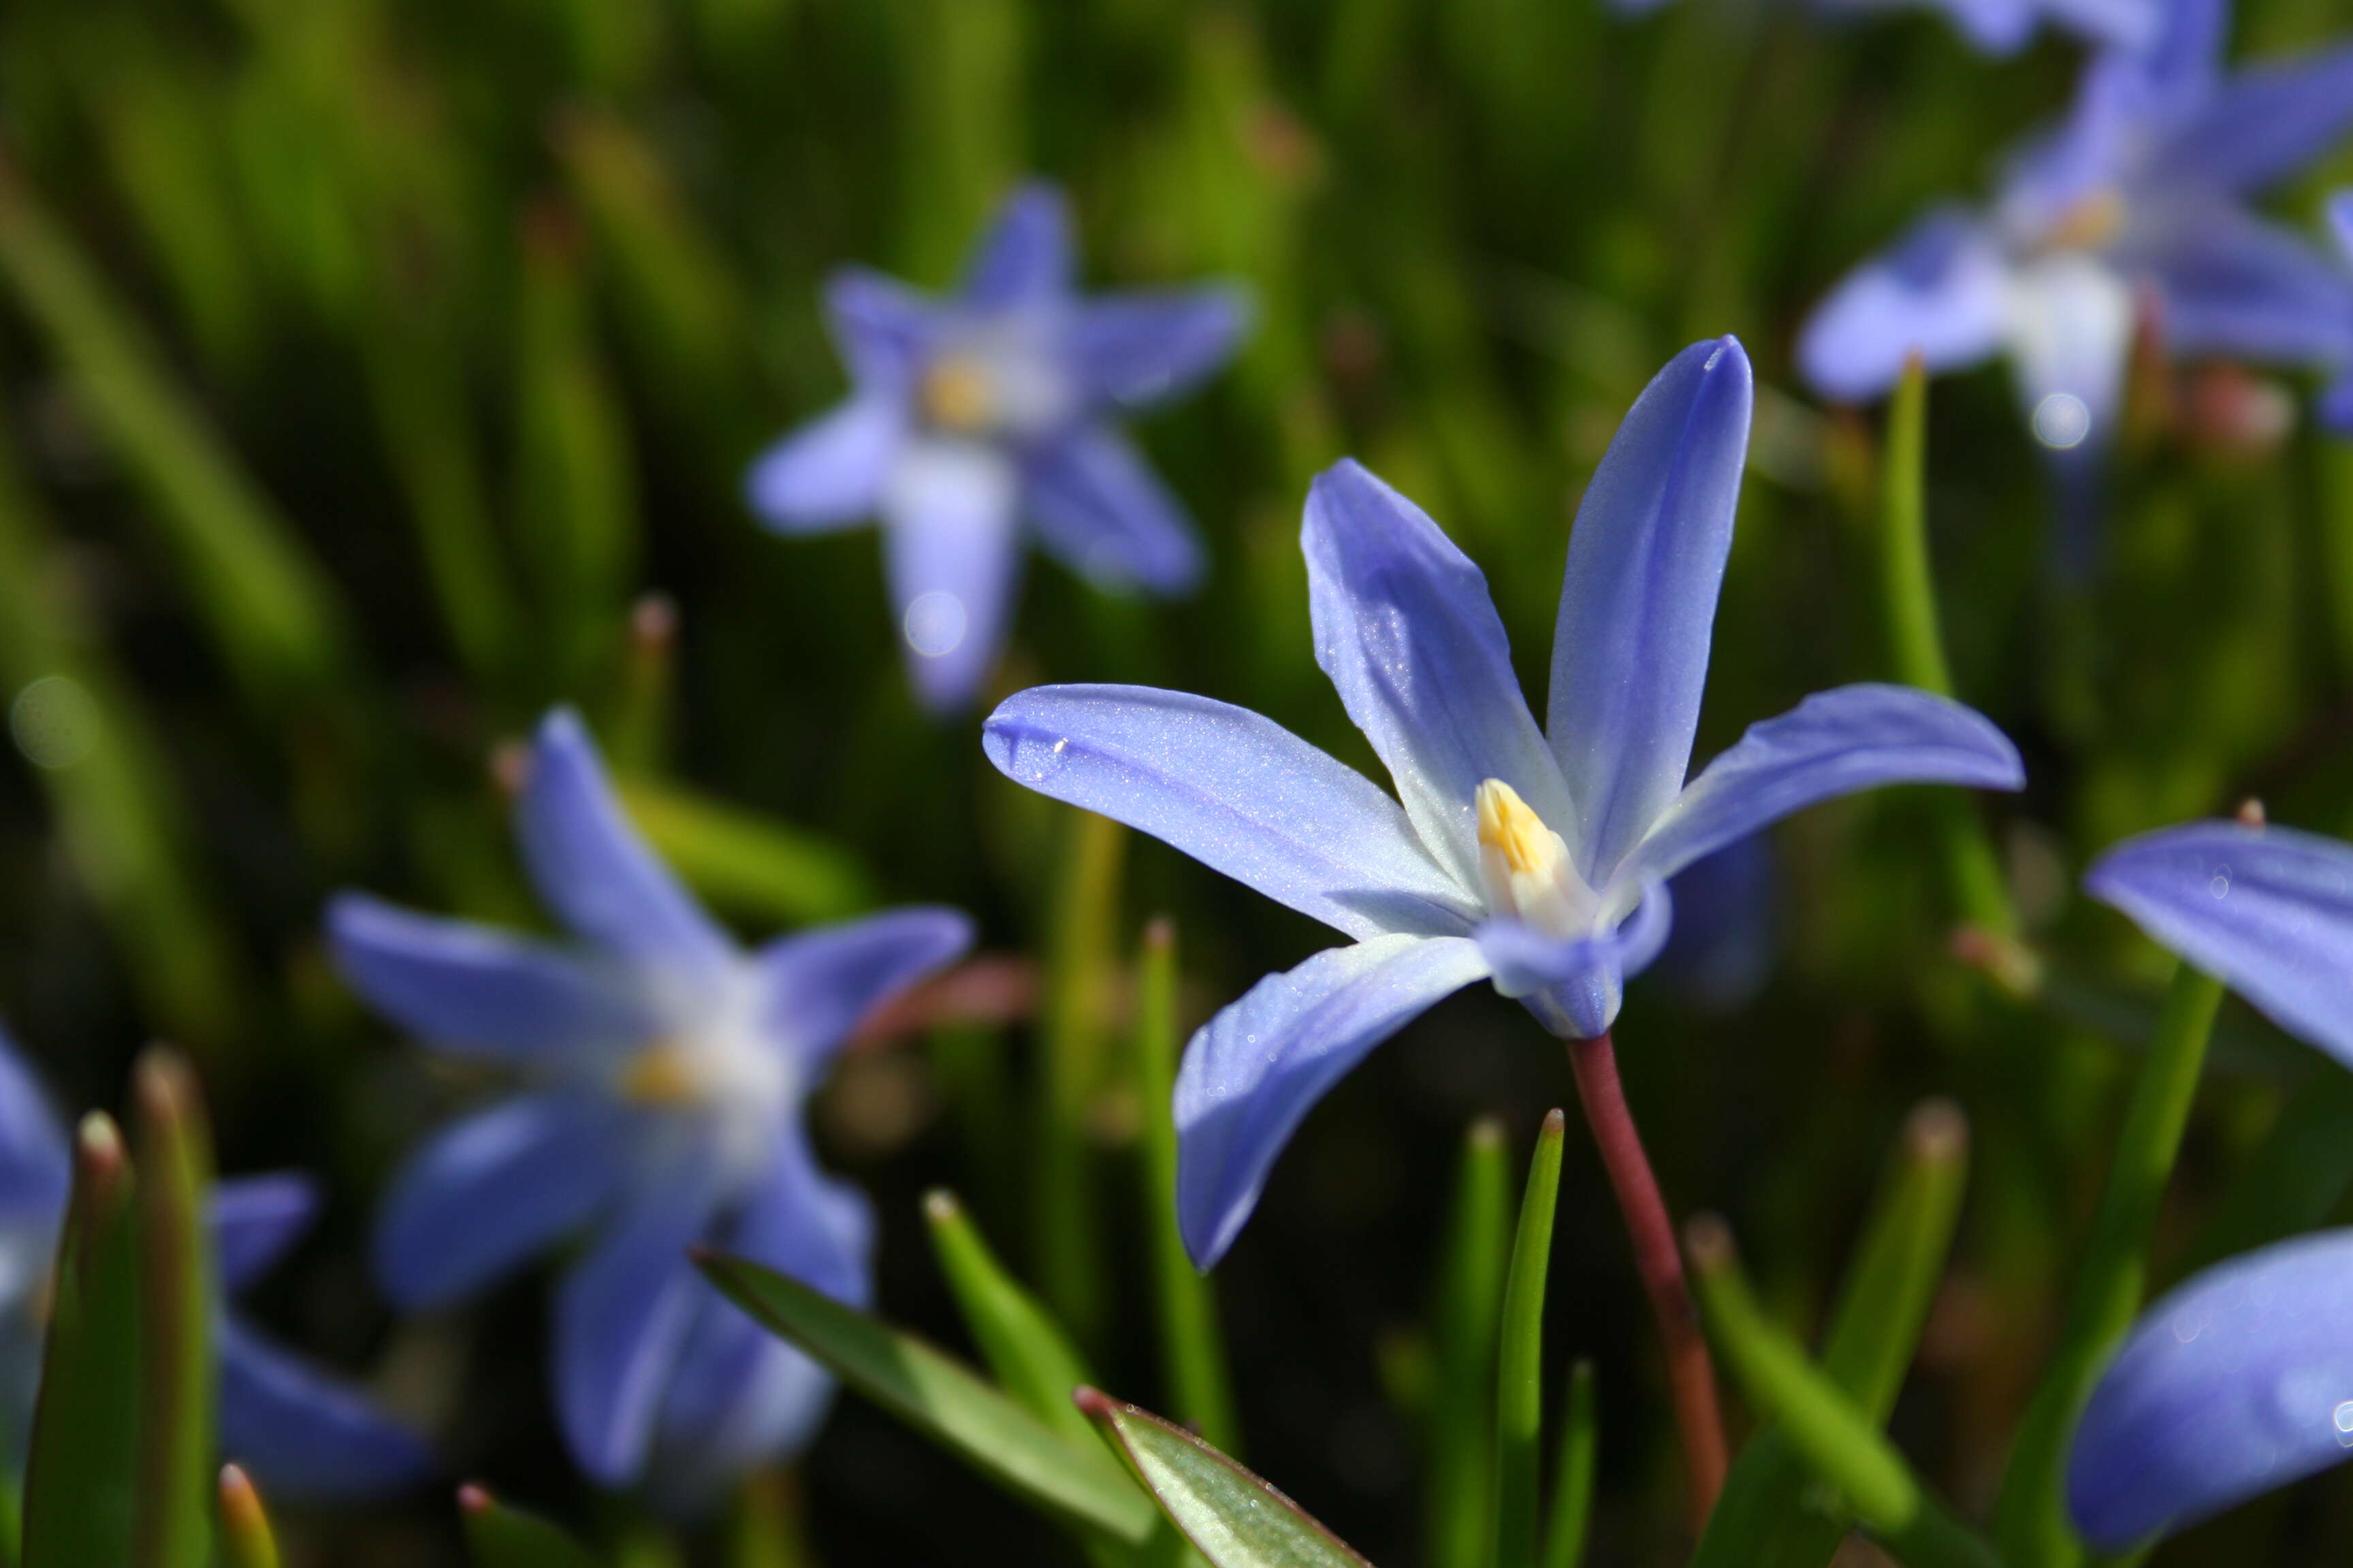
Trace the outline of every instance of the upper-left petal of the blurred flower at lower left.
{"label": "upper-left petal of the blurred flower at lower left", "polygon": [[447,1051],[532,1063],[654,1034],[621,976],[489,926],[339,893],[327,945],[369,1006]]}

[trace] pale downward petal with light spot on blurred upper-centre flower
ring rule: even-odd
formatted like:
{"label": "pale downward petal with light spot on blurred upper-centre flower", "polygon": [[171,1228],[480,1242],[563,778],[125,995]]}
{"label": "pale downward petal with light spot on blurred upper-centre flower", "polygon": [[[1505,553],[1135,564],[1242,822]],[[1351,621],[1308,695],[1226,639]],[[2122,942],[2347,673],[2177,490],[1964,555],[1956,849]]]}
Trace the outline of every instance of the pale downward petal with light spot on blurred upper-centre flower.
{"label": "pale downward petal with light spot on blurred upper-centre flower", "polygon": [[901,449],[882,487],[885,564],[915,696],[962,708],[988,679],[1021,571],[1019,470],[960,440]]}

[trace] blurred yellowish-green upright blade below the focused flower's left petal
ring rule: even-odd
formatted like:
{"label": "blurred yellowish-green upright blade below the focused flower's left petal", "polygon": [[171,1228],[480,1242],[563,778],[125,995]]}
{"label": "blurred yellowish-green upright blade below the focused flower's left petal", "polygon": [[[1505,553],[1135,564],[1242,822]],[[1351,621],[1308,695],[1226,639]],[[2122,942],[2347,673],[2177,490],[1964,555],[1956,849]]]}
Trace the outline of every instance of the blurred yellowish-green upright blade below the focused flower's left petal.
{"label": "blurred yellowish-green upright blade below the focused flower's left petal", "polygon": [[1031,1166],[1038,1293],[1080,1345],[1104,1326],[1101,1206],[1094,1180],[1094,1107],[1111,1086],[1104,1027],[1120,929],[1127,830],[1092,811],[1068,813],[1064,877],[1045,964],[1038,1074],[1038,1147]]}

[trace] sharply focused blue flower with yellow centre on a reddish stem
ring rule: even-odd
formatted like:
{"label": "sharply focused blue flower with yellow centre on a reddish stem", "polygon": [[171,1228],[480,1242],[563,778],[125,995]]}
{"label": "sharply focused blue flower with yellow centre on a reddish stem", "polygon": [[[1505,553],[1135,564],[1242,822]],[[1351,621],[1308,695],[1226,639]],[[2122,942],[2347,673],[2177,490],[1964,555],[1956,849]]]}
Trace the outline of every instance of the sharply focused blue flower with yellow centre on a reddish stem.
{"label": "sharply focused blue flower with yellow centre on a reddish stem", "polygon": [[1666,940],[1666,879],[1711,849],[1882,783],[2021,783],[1993,724],[1901,686],[1817,693],[1685,783],[1751,395],[1722,339],[1628,411],[1569,538],[1551,741],[1478,567],[1355,463],[1308,494],[1315,658],[1398,799],[1176,691],[1040,686],[991,715],[988,757],[1014,780],[1355,938],[1268,976],[1186,1051],[1179,1208],[1198,1262],[1231,1246],[1308,1107],[1440,997],[1492,980],[1553,1032],[1598,1037]]}

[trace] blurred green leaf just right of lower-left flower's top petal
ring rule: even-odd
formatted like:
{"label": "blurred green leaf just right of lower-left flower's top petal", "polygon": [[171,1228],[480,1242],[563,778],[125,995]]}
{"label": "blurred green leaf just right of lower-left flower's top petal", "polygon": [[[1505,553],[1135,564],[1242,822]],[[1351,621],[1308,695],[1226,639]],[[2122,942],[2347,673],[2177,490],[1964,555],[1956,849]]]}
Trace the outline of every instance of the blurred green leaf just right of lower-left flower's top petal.
{"label": "blurred green leaf just right of lower-left flower's top petal", "polygon": [[866,870],[831,839],[652,778],[616,783],[661,858],[720,907],[798,924],[875,903]]}

